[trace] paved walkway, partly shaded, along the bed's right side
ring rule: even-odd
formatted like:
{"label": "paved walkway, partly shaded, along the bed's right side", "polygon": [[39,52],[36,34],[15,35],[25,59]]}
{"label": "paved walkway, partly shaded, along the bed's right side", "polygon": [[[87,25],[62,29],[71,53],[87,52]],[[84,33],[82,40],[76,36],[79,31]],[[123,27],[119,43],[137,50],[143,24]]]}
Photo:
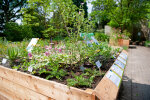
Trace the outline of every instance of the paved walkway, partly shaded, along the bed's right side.
{"label": "paved walkway, partly shaded, along the bed's right side", "polygon": [[118,100],[150,100],[150,48],[129,49]]}

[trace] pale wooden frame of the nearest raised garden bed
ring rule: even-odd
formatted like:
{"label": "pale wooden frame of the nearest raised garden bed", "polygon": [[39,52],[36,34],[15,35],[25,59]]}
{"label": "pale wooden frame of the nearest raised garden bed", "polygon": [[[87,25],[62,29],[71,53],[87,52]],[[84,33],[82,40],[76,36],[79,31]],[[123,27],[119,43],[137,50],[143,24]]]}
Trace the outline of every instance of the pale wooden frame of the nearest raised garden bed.
{"label": "pale wooden frame of the nearest raised garden bed", "polygon": [[[122,52],[127,54],[125,51]],[[95,89],[81,90],[0,66],[0,98],[8,100],[96,100],[96,98],[114,100],[120,85],[116,86],[108,78],[111,68]]]}

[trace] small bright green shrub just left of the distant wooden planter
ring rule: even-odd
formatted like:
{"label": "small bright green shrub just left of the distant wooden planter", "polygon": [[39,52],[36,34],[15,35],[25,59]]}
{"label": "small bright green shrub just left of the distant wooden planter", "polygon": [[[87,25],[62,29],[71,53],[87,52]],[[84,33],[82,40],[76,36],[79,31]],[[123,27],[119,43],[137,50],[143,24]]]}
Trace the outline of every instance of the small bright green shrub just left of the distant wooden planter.
{"label": "small bright green shrub just left of the distant wooden planter", "polygon": [[95,38],[99,41],[103,41],[103,42],[108,42],[109,41],[109,36],[106,35],[105,33],[99,33],[96,32],[95,33]]}

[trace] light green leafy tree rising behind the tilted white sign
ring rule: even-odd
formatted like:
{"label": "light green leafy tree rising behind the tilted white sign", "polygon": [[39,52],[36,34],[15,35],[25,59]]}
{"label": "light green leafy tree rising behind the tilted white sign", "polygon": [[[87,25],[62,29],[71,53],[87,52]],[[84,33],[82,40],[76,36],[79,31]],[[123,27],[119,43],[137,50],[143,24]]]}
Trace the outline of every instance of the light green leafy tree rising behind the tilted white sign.
{"label": "light green leafy tree rising behind the tilted white sign", "polygon": [[37,2],[37,5],[31,6],[28,4],[27,8],[22,9],[23,14],[23,24],[31,27],[32,32],[35,37],[42,37],[46,29],[47,22],[44,14],[41,12],[41,8]]}

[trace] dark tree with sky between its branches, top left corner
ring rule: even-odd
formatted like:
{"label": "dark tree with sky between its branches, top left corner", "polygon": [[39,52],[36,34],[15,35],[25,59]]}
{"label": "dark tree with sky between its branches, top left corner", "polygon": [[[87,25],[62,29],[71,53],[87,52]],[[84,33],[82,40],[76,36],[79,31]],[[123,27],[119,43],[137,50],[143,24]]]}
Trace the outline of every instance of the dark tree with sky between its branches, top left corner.
{"label": "dark tree with sky between its branches, top left corner", "polygon": [[[26,4],[26,0],[1,0],[0,1],[0,33],[4,31],[5,23],[16,21],[20,18],[21,8]],[[2,34],[0,34],[2,36]]]}

